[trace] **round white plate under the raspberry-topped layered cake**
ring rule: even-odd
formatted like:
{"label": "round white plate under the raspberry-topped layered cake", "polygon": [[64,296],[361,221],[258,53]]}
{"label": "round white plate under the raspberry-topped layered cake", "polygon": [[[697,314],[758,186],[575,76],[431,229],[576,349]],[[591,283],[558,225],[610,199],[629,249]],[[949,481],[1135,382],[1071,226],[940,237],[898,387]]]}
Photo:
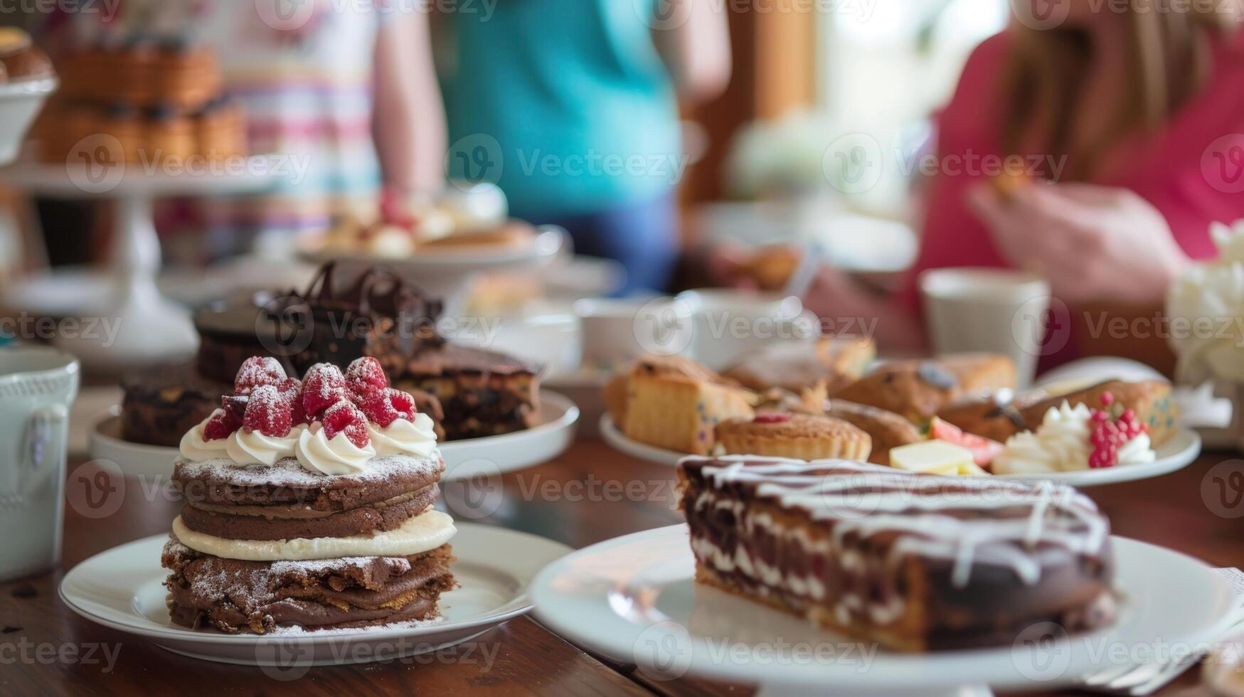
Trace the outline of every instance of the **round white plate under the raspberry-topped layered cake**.
{"label": "round white plate under the raspberry-topped layered cake", "polygon": [[92,622],[151,639],[175,653],[225,663],[321,666],[413,656],[466,641],[531,609],[536,573],[569,554],[564,544],[475,523],[455,523],[452,566],[458,590],[440,599],[444,620],[366,630],[226,635],[174,625],[165,605],[160,549],[153,535],[97,554],[61,581],[61,600]]}

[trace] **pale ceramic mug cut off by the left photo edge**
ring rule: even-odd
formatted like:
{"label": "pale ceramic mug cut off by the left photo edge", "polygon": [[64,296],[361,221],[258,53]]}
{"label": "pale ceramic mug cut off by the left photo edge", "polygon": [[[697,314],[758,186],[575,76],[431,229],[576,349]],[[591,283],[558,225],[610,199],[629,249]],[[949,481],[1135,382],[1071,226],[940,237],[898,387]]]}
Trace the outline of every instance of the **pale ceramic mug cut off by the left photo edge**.
{"label": "pale ceramic mug cut off by the left photo edge", "polygon": [[[0,581],[61,560],[65,458],[78,361],[47,347],[0,348]],[[15,534],[20,530],[20,534]]]}

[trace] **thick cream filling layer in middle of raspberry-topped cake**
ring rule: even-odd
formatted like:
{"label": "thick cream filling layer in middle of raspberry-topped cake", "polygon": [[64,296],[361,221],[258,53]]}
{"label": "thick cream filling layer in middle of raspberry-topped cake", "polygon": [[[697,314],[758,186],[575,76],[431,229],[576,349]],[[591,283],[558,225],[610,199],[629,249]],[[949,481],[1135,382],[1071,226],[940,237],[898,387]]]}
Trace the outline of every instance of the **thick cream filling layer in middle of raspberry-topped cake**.
{"label": "thick cream filling layer in middle of raspberry-topped cake", "polygon": [[295,538],[291,540],[230,540],[190,530],[178,515],[173,534],[185,546],[213,556],[243,561],[305,561],[342,556],[411,556],[449,541],[457,529],[447,513],[429,510],[396,530],[348,538]]}

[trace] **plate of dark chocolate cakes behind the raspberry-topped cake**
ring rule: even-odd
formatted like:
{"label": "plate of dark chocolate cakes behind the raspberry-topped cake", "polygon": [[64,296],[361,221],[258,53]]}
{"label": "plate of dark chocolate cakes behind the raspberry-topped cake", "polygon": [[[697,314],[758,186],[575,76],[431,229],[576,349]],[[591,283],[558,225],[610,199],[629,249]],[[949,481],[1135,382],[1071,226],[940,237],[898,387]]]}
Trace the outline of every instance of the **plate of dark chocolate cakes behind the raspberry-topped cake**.
{"label": "plate of dark chocolate cakes behind the raspberry-topped cake", "polygon": [[443,307],[383,266],[342,274],[332,263],[305,291],[244,294],[194,316],[194,361],[122,380],[122,403],[101,414],[91,454],[129,475],[168,474],[182,434],[231,393],[249,356],[274,356],[291,376],[318,362],[374,357],[427,413],[447,480],[551,459],[573,438],[578,408],[542,390],[542,366],[448,340]]}

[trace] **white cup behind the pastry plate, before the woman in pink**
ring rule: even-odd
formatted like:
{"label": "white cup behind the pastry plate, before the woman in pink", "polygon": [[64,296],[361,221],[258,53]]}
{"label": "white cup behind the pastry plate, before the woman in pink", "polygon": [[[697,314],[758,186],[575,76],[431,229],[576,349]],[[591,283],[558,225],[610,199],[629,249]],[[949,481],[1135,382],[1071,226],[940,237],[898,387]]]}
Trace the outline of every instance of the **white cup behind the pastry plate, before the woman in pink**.
{"label": "white cup behind the pastry plate, before the woman in pink", "polygon": [[1015,361],[1019,386],[1033,383],[1050,307],[1045,279],[1006,269],[933,269],[919,285],[935,353],[1003,353]]}

